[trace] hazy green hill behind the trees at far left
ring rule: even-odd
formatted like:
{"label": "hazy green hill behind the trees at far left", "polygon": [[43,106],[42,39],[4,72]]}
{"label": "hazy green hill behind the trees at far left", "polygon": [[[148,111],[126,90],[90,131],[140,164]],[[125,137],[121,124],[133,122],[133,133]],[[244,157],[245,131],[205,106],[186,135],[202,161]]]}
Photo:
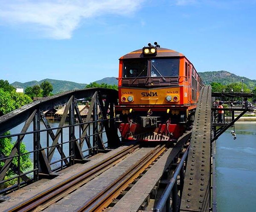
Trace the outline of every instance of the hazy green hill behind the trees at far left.
{"label": "hazy green hill behind the trees at far left", "polygon": [[29,82],[24,82],[24,83],[14,82],[14,83],[12,83],[12,86],[18,87],[18,88],[24,88],[24,90],[25,90],[26,87],[31,87],[31,86],[34,86],[37,84],[39,85],[43,81],[49,81],[52,84],[52,87],[53,87],[52,93],[53,94],[68,91],[68,90],[83,89],[86,86],[86,84],[82,84],[82,83],[57,80],[57,79],[43,79],[41,81],[29,81]]}

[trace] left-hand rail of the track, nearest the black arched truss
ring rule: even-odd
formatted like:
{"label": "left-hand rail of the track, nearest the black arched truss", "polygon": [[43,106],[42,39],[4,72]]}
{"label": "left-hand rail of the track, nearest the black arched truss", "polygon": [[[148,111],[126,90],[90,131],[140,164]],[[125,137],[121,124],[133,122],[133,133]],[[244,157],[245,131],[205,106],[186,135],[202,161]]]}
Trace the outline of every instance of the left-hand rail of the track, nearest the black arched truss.
{"label": "left-hand rail of the track, nearest the black arched truss", "polygon": [[[98,172],[102,171],[102,169],[111,166],[116,161],[125,157],[125,155],[129,154],[131,151],[134,151],[136,148],[139,148],[140,145],[130,145],[127,148],[113,154],[111,157],[106,158],[105,160],[100,161],[94,166],[87,168],[84,171],[79,172],[73,177],[68,178],[67,180],[58,183],[55,186],[50,187],[49,189],[44,190],[38,195],[31,197],[29,200],[25,200],[19,203],[16,206],[13,206],[4,212],[28,212],[35,210],[42,204],[46,204],[48,201],[51,201],[53,198],[56,199],[58,195],[61,193],[68,194],[73,191],[72,188],[77,187],[76,185],[81,185],[81,182],[95,176]],[[112,165],[113,166],[113,165]],[[62,197],[62,195],[61,195]],[[58,199],[58,198],[57,198]],[[52,201],[51,201],[52,202]]]}

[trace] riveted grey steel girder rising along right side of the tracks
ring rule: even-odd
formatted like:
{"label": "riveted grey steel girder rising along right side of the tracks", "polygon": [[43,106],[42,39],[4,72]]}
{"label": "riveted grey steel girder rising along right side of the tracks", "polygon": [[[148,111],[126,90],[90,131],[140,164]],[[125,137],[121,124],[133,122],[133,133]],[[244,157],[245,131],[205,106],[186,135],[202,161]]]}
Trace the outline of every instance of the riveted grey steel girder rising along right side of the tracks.
{"label": "riveted grey steel girder rising along right side of the tracks", "polygon": [[209,212],[210,167],[211,87],[205,86],[195,112],[180,212]]}

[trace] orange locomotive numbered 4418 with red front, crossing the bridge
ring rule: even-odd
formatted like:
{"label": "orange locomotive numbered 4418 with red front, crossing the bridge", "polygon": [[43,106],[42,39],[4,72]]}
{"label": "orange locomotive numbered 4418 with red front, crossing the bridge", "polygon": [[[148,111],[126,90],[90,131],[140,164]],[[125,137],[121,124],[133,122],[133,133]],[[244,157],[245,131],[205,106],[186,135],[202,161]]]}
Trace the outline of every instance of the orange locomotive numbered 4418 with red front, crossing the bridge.
{"label": "orange locomotive numbered 4418 with red front, crossing the bridge", "polygon": [[183,54],[154,45],[119,59],[115,111],[123,140],[174,140],[193,121],[200,76]]}

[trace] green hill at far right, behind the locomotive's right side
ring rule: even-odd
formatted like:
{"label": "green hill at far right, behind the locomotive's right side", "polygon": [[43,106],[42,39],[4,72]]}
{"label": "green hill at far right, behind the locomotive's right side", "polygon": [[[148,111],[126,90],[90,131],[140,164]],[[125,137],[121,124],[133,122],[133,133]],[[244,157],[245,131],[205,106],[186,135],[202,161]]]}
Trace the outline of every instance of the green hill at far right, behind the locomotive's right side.
{"label": "green hill at far right, behind the locomotive's right side", "polygon": [[244,84],[247,87],[256,86],[256,80],[252,80],[246,77],[237,76],[227,71],[207,71],[199,72],[200,77],[204,81],[204,84],[211,84],[212,82],[219,82],[221,84],[230,84],[232,82],[241,82],[244,79]]}

